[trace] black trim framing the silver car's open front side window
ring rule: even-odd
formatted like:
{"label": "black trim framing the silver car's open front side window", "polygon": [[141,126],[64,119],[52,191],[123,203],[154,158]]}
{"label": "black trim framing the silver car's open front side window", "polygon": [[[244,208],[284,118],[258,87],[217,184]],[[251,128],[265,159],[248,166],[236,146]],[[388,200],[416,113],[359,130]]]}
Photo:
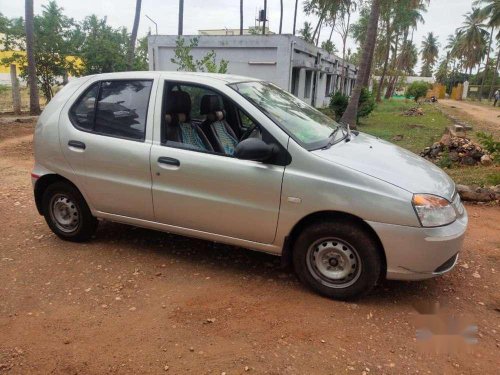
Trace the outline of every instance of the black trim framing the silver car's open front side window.
{"label": "black trim framing the silver car's open front side window", "polygon": [[[292,157],[291,157],[290,153],[288,152],[287,148],[284,147],[264,126],[262,126],[262,124],[259,121],[255,120],[255,118],[253,116],[251,116],[242,106],[240,106],[238,103],[236,103],[236,101],[234,101],[233,98],[231,98],[228,94],[225,94],[222,91],[220,91],[219,89],[217,89],[217,88],[215,88],[213,86],[204,84],[204,83],[197,83],[197,82],[189,82],[189,81],[182,81],[182,80],[174,80],[174,79],[164,78],[163,79],[163,84],[164,84],[163,90],[162,90],[163,92],[161,93],[161,95],[162,95],[162,97],[161,97],[162,105],[161,105],[161,125],[160,125],[160,143],[159,143],[160,146],[171,147],[171,148],[176,148],[176,149],[181,149],[181,150],[186,150],[186,151],[193,151],[193,152],[199,152],[199,153],[202,153],[202,154],[222,156],[222,157],[226,157],[226,158],[232,158],[232,159],[240,160],[240,159],[236,158],[234,155],[223,154],[223,153],[217,152],[215,150],[214,151],[196,150],[196,149],[192,149],[192,148],[189,148],[189,147],[182,147],[182,146],[168,144],[168,142],[179,144],[178,142],[168,141],[168,140],[165,140],[165,142],[163,141],[163,139],[164,139],[164,131],[165,131],[164,130],[165,105],[166,105],[166,99],[168,98],[168,96],[166,96],[168,86],[169,85],[171,85],[171,86],[175,86],[175,85],[180,85],[180,86],[182,86],[182,85],[184,85],[184,86],[195,86],[195,87],[200,87],[200,88],[212,91],[215,94],[220,95],[221,98],[222,98],[222,100],[227,100],[232,106],[234,106],[236,108],[236,110],[242,111],[246,116],[248,116],[248,118],[250,120],[252,120],[261,129],[261,131],[264,131],[264,132],[268,133],[269,136],[272,137],[272,139],[274,140],[274,143],[280,149],[280,152],[284,152],[285,153],[285,156],[283,157],[283,159],[286,160],[286,161],[283,162],[283,163],[276,163],[276,162],[267,163],[266,162],[265,164],[286,166],[286,165],[288,165],[288,164],[291,163]],[[232,90],[234,90],[229,85],[227,85],[227,87],[230,87]],[[234,91],[236,91],[236,90],[234,90]],[[253,103],[251,103],[248,100],[247,100],[247,102],[250,103],[251,105],[254,105]],[[238,115],[238,117],[239,117],[239,115]],[[239,142],[239,139],[238,139],[238,142]],[[182,145],[182,143],[180,143],[180,144]]]}

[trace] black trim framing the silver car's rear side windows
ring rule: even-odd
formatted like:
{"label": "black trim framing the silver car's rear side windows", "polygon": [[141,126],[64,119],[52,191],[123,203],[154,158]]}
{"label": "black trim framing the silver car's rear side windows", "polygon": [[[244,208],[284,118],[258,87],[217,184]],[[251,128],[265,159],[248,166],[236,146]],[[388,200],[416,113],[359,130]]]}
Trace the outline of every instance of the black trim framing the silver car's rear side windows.
{"label": "black trim framing the silver car's rear side windows", "polygon": [[[120,81],[124,81],[124,82],[131,82],[131,81],[146,81],[146,82],[151,82],[151,88],[149,90],[148,101],[146,103],[146,115],[144,116],[144,131],[143,131],[143,134],[142,134],[141,138],[125,137],[125,136],[120,136],[120,135],[114,135],[114,134],[108,134],[108,133],[98,132],[98,131],[94,130],[95,129],[96,118],[97,118],[97,104],[99,103],[99,98],[101,96],[101,86],[102,86],[102,83],[103,82],[120,82]],[[92,123],[92,129],[85,129],[85,128],[79,126],[79,124],[75,120],[72,112],[73,112],[74,107],[80,101],[80,99],[82,99],[89,92],[89,90],[93,86],[95,86],[95,85],[97,85],[97,97],[96,97],[96,100],[94,102],[94,110],[93,110],[94,118],[93,118],[93,123]],[[71,107],[68,110],[69,120],[70,120],[71,124],[73,125],[73,127],[75,129],[81,131],[81,132],[90,133],[90,134],[97,134],[97,135],[101,135],[101,136],[104,136],[104,137],[119,138],[119,139],[125,139],[125,140],[128,140],[128,141],[135,141],[135,142],[143,142],[144,143],[146,141],[146,130],[147,130],[147,126],[148,126],[149,106],[150,106],[150,102],[151,102],[151,94],[153,92],[153,85],[154,85],[154,79],[153,78],[146,78],[146,79],[142,79],[142,78],[115,78],[115,79],[102,79],[102,80],[99,80],[99,81],[94,81],[90,85],[88,85],[83,90],[83,92],[80,95],[78,95],[78,97],[71,104]]]}

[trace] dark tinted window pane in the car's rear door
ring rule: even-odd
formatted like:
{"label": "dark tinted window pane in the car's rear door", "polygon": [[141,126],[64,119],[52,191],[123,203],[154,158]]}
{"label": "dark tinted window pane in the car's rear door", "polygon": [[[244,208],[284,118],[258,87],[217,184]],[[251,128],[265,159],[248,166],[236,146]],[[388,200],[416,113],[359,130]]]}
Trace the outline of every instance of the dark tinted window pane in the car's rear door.
{"label": "dark tinted window pane in the car's rear door", "polygon": [[94,131],[143,140],[152,81],[101,82]]}

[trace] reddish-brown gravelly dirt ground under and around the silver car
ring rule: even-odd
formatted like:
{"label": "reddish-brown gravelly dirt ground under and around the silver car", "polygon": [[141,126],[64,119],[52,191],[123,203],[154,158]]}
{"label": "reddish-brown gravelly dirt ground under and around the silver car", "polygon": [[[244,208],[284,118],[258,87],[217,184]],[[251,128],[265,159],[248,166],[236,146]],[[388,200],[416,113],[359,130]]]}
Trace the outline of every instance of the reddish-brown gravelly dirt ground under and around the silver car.
{"label": "reddish-brown gravelly dirt ground under and around the silver car", "polygon": [[[240,248],[108,222],[59,240],[32,198],[32,130],[0,123],[0,373],[498,373],[500,208],[467,206],[451,273],[337,302]],[[468,317],[477,344],[422,349],[426,303]]]}

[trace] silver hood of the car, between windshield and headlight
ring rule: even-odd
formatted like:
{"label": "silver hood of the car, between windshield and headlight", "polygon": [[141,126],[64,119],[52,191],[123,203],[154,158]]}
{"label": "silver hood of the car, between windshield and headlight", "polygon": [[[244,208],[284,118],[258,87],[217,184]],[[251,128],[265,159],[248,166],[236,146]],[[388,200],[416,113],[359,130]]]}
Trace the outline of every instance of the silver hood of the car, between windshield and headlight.
{"label": "silver hood of the car, between windshield and headlight", "polygon": [[435,194],[452,200],[455,183],[440,168],[424,158],[368,134],[353,135],[313,151],[321,158],[396,185],[411,193]]}

